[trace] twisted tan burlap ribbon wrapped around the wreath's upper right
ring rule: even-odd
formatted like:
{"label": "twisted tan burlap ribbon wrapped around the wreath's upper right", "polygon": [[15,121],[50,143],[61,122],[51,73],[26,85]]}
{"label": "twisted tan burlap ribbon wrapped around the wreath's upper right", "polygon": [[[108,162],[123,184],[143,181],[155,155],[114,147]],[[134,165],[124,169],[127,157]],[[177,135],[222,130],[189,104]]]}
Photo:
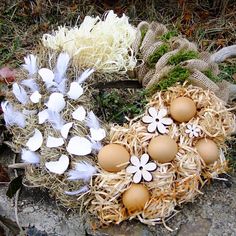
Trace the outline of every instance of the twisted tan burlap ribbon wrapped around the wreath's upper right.
{"label": "twisted tan burlap ribbon wrapped around the wreath's upper right", "polygon": [[[154,68],[150,68],[148,58],[164,44],[161,36],[166,34],[168,30],[164,25],[157,22],[150,24],[141,22],[137,29],[136,40],[132,47],[135,55],[140,59],[140,64],[136,68],[135,74],[140,83],[146,88],[158,83],[173,69],[174,66],[168,63],[170,57],[184,50],[197,52],[197,46],[186,38],[181,36],[172,37],[168,40],[170,50],[160,57]],[[146,34],[143,37],[144,32]],[[210,70],[214,76],[217,76],[220,72],[217,63],[231,56],[236,56],[236,45],[221,49],[212,55],[208,52],[201,52],[198,59],[186,60],[181,62],[180,66],[191,72],[189,80],[192,84],[209,89],[222,100],[228,102],[236,98],[236,85],[227,81],[215,83],[203,72]]]}

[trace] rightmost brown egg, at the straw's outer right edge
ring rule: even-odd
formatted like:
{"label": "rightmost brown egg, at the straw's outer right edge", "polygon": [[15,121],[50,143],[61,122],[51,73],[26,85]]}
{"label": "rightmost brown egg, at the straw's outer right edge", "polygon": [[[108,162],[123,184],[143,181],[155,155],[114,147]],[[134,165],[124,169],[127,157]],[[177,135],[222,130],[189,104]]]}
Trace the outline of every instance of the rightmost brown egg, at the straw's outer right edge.
{"label": "rightmost brown egg, at the straw's outer right edge", "polygon": [[209,165],[219,159],[219,149],[214,141],[203,138],[196,143],[196,149],[204,162]]}

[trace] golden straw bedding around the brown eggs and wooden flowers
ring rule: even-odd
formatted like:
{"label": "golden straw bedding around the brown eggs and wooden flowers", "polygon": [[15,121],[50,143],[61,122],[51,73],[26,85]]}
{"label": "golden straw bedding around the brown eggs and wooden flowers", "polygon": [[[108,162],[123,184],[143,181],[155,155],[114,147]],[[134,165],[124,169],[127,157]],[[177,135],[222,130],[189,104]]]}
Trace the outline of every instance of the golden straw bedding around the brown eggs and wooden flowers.
{"label": "golden straw bedding around the brown eggs and wooden flowers", "polygon": [[[156,162],[157,169],[152,172],[153,180],[142,182],[151,197],[139,212],[129,212],[122,203],[122,194],[131,185],[132,175],[125,170],[109,173],[101,169],[93,181],[89,210],[103,224],[120,223],[133,218],[150,225],[159,222],[165,224],[177,212],[176,206],[192,202],[197,195],[202,194],[201,188],[208,180],[227,171],[223,153],[225,141],[235,130],[235,116],[213,92],[187,84],[157,92],[147,108],[166,108],[169,116],[171,101],[179,96],[189,97],[195,102],[197,114],[188,123],[201,127],[200,137],[190,138],[185,132],[186,123],[173,122],[169,126],[168,135],[177,142],[178,153],[171,163]],[[147,153],[150,140],[159,134],[147,132],[147,125],[141,121],[142,116],[123,127],[113,125],[110,143],[123,145],[130,155],[137,157]],[[214,164],[206,165],[194,147],[197,140],[204,137],[212,139],[221,150],[220,158]]]}

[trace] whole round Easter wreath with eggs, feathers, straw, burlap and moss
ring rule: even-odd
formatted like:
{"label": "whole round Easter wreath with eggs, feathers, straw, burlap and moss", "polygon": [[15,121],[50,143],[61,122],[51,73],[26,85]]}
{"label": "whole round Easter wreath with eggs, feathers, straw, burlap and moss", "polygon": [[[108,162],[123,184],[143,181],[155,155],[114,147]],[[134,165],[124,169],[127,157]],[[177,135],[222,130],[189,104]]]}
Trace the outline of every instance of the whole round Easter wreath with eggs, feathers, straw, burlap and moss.
{"label": "whole round Easter wreath with eggs, feathers, straw, burlap and moss", "polygon": [[[42,44],[2,103],[25,184],[48,188],[102,224],[153,225],[227,171],[226,141],[235,131],[227,102],[236,89],[220,81],[217,62],[235,46],[198,52],[162,24],[134,27],[112,11],[59,27]],[[100,120],[94,91],[127,81],[145,88],[143,112],[123,125]]]}

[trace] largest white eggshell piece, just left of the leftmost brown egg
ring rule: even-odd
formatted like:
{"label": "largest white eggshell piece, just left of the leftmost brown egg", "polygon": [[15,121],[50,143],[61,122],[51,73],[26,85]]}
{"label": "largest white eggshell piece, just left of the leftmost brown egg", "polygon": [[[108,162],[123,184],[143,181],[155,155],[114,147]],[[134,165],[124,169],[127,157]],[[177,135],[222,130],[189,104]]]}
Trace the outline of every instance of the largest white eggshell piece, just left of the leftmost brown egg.
{"label": "largest white eggshell piece, just left of the leftmost brown egg", "polygon": [[86,138],[75,136],[70,139],[66,150],[70,154],[85,156],[91,153],[92,143]]}

